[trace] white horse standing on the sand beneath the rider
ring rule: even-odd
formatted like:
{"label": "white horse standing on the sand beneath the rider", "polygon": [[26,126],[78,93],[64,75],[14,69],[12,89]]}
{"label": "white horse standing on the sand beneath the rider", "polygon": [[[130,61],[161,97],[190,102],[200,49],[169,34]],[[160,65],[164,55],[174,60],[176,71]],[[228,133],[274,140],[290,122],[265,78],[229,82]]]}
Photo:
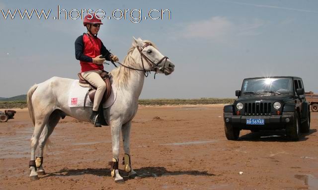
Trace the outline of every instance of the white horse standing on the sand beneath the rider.
{"label": "white horse standing on the sand beneath the rider", "polygon": [[[117,86],[117,98],[111,107],[104,110],[112,136],[111,175],[117,183],[124,182],[118,172],[120,133],[122,133],[125,151],[125,171],[131,178],[137,176],[130,163],[130,128],[138,109],[138,98],[143,89],[146,71],[168,75],[174,71],[174,65],[157,50],[152,42],[134,38],[122,66],[110,72],[111,83]],[[29,115],[34,125],[29,162],[31,180],[38,179],[38,174],[45,174],[42,166],[43,148],[61,117],[70,116],[89,122],[91,108],[86,107],[84,110],[83,107],[68,106],[69,90],[73,82],[73,79],[52,77],[45,82],[33,85],[27,93]],[[39,146],[39,153],[35,159],[37,146]]]}

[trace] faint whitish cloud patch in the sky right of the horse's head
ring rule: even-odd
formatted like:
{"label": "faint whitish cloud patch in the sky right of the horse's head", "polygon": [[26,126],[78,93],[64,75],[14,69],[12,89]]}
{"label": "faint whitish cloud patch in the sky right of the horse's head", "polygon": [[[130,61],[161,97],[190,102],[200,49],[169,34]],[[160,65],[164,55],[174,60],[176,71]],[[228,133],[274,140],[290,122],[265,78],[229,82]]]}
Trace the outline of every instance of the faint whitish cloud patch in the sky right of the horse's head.
{"label": "faint whitish cloud patch in the sky right of the horse's head", "polygon": [[217,39],[227,35],[233,29],[226,17],[212,17],[209,20],[191,22],[181,31],[181,36],[185,38],[205,38]]}

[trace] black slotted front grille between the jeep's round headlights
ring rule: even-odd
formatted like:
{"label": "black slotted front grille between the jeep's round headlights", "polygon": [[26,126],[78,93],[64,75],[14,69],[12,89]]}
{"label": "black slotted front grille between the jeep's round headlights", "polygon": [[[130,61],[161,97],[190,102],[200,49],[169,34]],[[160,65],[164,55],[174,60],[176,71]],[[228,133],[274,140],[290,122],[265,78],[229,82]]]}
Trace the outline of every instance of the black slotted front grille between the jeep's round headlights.
{"label": "black slotted front grille between the jeep's round headlights", "polygon": [[270,115],[271,103],[245,103],[245,115]]}

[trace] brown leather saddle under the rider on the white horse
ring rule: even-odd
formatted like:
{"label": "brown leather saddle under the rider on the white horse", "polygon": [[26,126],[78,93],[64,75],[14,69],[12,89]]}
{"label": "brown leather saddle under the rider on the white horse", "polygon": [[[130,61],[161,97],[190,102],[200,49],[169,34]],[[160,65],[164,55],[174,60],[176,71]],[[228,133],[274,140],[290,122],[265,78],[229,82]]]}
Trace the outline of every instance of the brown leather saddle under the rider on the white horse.
{"label": "brown leather saddle under the rider on the white horse", "polygon": [[[93,86],[92,84],[90,84],[87,80],[85,80],[81,73],[78,73],[79,76],[79,86],[81,87],[88,87],[88,91],[86,92],[85,98],[84,98],[84,109],[85,109],[85,105],[86,105],[86,99],[87,96],[89,97],[89,100],[94,103],[94,97],[95,97],[95,93],[97,88],[95,86]],[[99,112],[99,119],[100,119],[100,124],[103,126],[108,126],[105,118],[104,118],[104,111],[103,111],[103,103],[106,102],[106,100],[109,98],[110,93],[111,93],[111,84],[110,84],[110,80],[109,80],[109,75],[108,72],[103,70],[102,73],[100,73],[100,77],[104,80],[105,84],[106,84],[106,91],[104,92],[104,96],[99,104],[99,108],[98,108],[98,112]]]}

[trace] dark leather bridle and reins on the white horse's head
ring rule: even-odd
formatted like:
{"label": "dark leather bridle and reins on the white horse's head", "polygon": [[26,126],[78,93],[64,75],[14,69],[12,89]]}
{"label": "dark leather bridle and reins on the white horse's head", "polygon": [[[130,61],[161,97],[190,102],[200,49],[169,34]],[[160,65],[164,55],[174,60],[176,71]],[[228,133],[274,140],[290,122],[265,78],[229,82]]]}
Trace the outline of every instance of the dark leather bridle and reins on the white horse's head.
{"label": "dark leather bridle and reins on the white horse's head", "polygon": [[[143,50],[144,50],[147,46],[151,46],[151,44],[150,44],[150,43],[146,43],[146,44],[145,44],[143,47],[141,47],[141,48],[140,48],[139,46],[137,46],[137,50],[138,50],[139,53],[140,53],[141,63],[143,64],[143,70],[142,70],[142,69],[138,69],[138,68],[133,68],[133,67],[130,67],[130,66],[126,66],[126,65],[124,65],[124,64],[122,64],[122,63],[120,63],[120,62],[116,62],[116,63],[118,63],[118,64],[120,64],[120,65],[122,65],[122,66],[124,66],[124,67],[126,67],[126,68],[129,68],[129,69],[143,71],[146,77],[149,75],[149,73],[150,73],[151,71],[155,71],[155,72],[157,73],[156,68],[158,68],[159,70],[161,70],[161,71],[163,72],[163,71],[164,71],[164,67],[165,67],[165,63],[166,63],[168,57],[164,56],[163,58],[161,58],[161,59],[159,60],[158,63],[154,63],[154,62],[151,61],[147,56],[145,56],[145,54],[143,53]],[[146,60],[146,62],[151,66],[151,68],[152,68],[151,70],[146,70],[146,69],[145,69],[144,59],[143,59],[143,58],[144,58],[144,59]],[[159,65],[163,60],[164,60],[163,66],[162,66],[162,67],[158,67],[158,65]],[[113,63],[113,64],[117,67],[117,65],[116,65],[112,60],[111,60],[111,63]],[[155,77],[156,77],[156,73],[155,73]]]}

